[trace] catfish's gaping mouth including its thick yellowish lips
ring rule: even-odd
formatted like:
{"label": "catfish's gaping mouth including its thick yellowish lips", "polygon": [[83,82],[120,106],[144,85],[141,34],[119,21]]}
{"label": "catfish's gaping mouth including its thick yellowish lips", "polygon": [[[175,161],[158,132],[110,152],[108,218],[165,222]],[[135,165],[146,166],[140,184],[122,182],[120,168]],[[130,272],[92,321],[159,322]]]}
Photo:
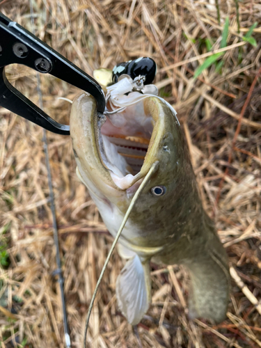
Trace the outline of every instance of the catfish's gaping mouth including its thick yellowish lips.
{"label": "catfish's gaping mouth including its thick yellowish lips", "polygon": [[79,95],[72,103],[70,133],[83,182],[91,178],[108,190],[134,191],[152,164],[168,154],[165,114],[172,118],[175,111],[155,95],[133,91],[120,98],[120,111],[102,115],[92,96]]}

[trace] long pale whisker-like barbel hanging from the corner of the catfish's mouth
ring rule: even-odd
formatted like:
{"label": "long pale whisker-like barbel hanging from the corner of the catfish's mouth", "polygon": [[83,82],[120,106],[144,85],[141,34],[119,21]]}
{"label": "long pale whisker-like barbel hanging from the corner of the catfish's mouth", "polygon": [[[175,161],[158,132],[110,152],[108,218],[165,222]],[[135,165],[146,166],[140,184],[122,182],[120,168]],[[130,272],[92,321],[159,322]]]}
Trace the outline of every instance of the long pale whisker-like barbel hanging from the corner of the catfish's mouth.
{"label": "long pale whisker-like barbel hanging from the corner of the catfish's mouth", "polygon": [[148,171],[147,175],[145,175],[144,180],[141,183],[139,189],[137,189],[136,193],[134,194],[134,197],[132,198],[131,203],[129,204],[129,207],[128,207],[127,212],[124,216],[124,219],[122,220],[120,228],[119,228],[117,235],[113,241],[113,244],[111,246],[111,250],[109,251],[109,254],[106,258],[106,261],[104,262],[104,267],[102,267],[100,277],[97,280],[97,284],[96,284],[95,290],[93,292],[93,297],[90,301],[90,307],[89,307],[87,317],[86,317],[86,324],[85,324],[85,328],[84,328],[84,346],[83,346],[84,348],[86,348],[86,338],[87,338],[88,324],[89,324],[89,320],[90,320],[90,313],[93,309],[93,303],[95,301],[95,297],[96,297],[97,291],[99,289],[100,283],[102,281],[102,277],[104,275],[104,272],[106,271],[107,264],[109,263],[109,260],[111,258],[111,254],[113,253],[113,250],[118,242],[118,239],[120,238],[120,234],[125,226],[125,223],[127,222],[127,219],[129,218],[129,214],[132,212],[132,209],[133,209],[136,201],[139,199],[139,196],[141,196],[141,192],[143,191],[147,182],[150,180],[150,177],[155,173],[155,171],[157,171],[158,168],[159,168],[159,161],[156,161],[154,164],[152,164],[152,166],[150,167],[150,171]]}

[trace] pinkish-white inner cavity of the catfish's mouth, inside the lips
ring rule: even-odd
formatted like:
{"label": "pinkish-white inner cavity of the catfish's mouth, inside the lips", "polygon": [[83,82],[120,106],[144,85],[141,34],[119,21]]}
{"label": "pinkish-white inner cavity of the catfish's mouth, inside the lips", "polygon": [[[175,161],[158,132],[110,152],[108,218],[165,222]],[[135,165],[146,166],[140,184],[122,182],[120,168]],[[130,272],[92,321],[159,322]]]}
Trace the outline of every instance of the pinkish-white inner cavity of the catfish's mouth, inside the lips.
{"label": "pinkish-white inner cavity of the catfish's mouth, inside the lips", "polygon": [[[103,146],[99,148],[105,162],[112,170],[113,181],[121,187],[130,176],[141,171],[155,121],[145,113],[143,101],[128,106],[124,111],[106,116],[100,136]],[[107,164],[112,166],[108,166]],[[111,167],[111,168],[110,168]],[[116,180],[118,176],[122,184]],[[127,176],[127,177],[126,177]],[[126,177],[126,180],[124,180]],[[123,188],[123,187],[121,187]]]}

